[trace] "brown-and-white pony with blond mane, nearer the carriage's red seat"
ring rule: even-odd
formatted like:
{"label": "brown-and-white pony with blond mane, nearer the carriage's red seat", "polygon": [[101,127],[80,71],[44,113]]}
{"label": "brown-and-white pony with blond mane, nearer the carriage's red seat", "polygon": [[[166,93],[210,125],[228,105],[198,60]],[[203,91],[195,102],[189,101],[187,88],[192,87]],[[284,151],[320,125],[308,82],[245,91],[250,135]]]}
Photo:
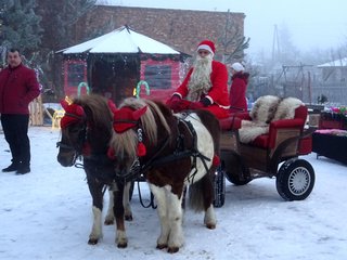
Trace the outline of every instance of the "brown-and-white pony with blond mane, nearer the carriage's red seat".
{"label": "brown-and-white pony with blond mane, nearer the carriage's red seat", "polygon": [[131,180],[143,173],[157,203],[160,235],[157,248],[177,252],[183,245],[182,199],[205,211],[216,227],[213,174],[219,164],[220,127],[207,110],[172,114],[159,102],[128,98],[114,110],[111,141],[116,174]]}

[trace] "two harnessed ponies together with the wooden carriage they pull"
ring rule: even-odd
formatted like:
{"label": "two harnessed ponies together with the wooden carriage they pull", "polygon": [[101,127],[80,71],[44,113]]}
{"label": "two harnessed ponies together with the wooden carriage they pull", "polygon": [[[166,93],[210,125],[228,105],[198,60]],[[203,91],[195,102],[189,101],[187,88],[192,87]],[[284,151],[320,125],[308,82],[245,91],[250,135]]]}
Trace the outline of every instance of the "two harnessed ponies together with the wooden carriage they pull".
{"label": "two harnessed ponies together with the wooden carriage they pull", "polygon": [[216,227],[213,206],[224,202],[224,176],[236,185],[277,177],[283,198],[305,199],[314,184],[312,167],[298,159],[311,152],[304,134],[307,108],[296,99],[267,99],[256,102],[249,114],[221,121],[204,109],[174,114],[149,100],[126,99],[119,108],[98,95],[62,103],[57,160],[67,167],[77,156],[83,158],[94,217],[88,243],[102,237],[103,190],[108,185],[105,224],[116,221],[116,244],[127,247],[124,221],[132,219],[129,190],[139,178],[156,198],[162,227],[157,248],[168,252],[183,244],[181,206],[188,185],[191,206],[205,211],[207,229]]}

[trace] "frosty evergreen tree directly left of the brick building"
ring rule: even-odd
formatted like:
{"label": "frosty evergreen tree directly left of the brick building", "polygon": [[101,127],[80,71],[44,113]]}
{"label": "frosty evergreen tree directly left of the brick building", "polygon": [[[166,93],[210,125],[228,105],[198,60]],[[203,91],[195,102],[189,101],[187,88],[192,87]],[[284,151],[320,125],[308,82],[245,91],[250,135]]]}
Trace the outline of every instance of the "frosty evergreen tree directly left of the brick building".
{"label": "frosty evergreen tree directly left of the brick building", "polygon": [[[1,0],[0,0],[1,1]],[[57,50],[74,42],[74,25],[86,12],[90,11],[97,0],[36,0],[36,13],[42,17],[42,44],[37,56],[40,64],[43,88],[55,95],[62,95],[61,89],[61,55],[54,55]],[[56,98],[57,98],[56,96]],[[55,99],[44,96],[44,99]]]}

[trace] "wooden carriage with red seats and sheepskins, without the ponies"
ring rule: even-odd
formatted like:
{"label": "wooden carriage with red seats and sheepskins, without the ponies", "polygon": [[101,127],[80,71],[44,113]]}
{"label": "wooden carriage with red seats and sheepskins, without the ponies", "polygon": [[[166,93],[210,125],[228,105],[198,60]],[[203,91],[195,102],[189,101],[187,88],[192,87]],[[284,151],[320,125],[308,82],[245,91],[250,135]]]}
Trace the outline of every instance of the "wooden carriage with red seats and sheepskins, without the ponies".
{"label": "wooden carriage with red seats and sheepskins, without the ponies", "polygon": [[224,204],[226,181],[244,185],[256,178],[275,178],[285,200],[301,200],[314,185],[314,170],[300,155],[311,153],[307,107],[297,99],[259,98],[247,113],[220,120],[221,164],[215,178],[215,207]]}

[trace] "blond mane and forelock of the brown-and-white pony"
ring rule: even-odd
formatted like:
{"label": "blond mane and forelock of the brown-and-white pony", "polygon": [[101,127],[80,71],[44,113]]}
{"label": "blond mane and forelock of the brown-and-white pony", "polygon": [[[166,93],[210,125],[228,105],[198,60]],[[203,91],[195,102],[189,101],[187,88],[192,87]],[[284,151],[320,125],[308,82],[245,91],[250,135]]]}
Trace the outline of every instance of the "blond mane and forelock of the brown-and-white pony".
{"label": "blond mane and forelock of the brown-and-white pony", "polygon": [[[140,120],[141,120],[142,128],[146,134],[146,138],[149,139],[149,142],[152,145],[156,145],[158,141],[157,140],[158,122],[156,122],[156,117],[158,118],[159,122],[163,125],[163,127],[167,131],[168,135],[169,136],[171,135],[170,134],[171,130],[165,119],[165,115],[162,112],[164,106],[162,107],[156,102],[153,102],[150,100],[142,100],[142,99],[136,99],[136,98],[125,99],[123,103],[119,105],[119,107],[125,107],[125,106],[131,107],[133,109],[139,109],[139,108],[142,108],[143,106],[147,106],[146,112],[144,113],[144,115],[141,117]],[[165,108],[164,108],[164,113],[166,114],[167,112],[165,112]],[[117,157],[119,156],[120,158],[124,158],[127,156],[127,157],[130,157],[131,159],[134,159],[137,157],[137,145],[138,145],[138,136],[136,131],[126,131],[121,134],[114,132],[113,139],[111,141],[111,146],[114,148],[116,156]]]}

